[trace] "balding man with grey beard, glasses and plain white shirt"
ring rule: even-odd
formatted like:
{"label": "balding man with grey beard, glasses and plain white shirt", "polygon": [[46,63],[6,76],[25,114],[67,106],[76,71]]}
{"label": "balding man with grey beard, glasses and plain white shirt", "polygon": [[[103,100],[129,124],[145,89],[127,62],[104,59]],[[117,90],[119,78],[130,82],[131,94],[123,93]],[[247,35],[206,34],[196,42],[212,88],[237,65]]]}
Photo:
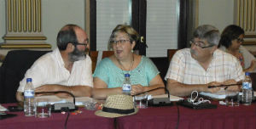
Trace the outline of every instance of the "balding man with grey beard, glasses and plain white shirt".
{"label": "balding man with grey beard, glasses and plain white shirt", "polygon": [[[76,97],[90,97],[93,82],[91,60],[86,56],[90,48],[87,34],[78,25],[65,25],[58,33],[57,47],[26,71],[16,93],[18,101],[23,101],[26,78],[32,78],[36,93],[67,91]],[[65,93],[56,95],[67,97]]]}

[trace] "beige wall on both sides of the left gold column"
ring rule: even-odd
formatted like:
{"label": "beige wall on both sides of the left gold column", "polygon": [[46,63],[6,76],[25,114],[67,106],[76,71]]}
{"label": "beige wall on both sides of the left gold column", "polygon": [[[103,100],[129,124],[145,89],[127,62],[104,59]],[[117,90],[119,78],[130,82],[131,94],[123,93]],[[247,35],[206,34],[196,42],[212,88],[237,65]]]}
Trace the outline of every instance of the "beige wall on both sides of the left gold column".
{"label": "beige wall on both sides of the left gold column", "polygon": [[[46,42],[56,48],[57,32],[63,25],[77,24],[84,28],[84,0],[42,0],[42,28]],[[0,42],[5,35],[5,0],[0,0]]]}

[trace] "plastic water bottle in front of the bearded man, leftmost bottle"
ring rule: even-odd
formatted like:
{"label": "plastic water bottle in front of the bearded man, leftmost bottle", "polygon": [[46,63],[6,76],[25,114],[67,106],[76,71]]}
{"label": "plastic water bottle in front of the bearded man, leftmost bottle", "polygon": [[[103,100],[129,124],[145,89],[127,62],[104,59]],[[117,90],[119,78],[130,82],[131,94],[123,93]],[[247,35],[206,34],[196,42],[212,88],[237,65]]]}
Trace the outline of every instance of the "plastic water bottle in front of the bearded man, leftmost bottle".
{"label": "plastic water bottle in front of the bearded man, leftmost bottle", "polygon": [[32,78],[26,78],[26,85],[24,87],[24,112],[26,116],[35,115],[34,104],[34,87],[32,86]]}

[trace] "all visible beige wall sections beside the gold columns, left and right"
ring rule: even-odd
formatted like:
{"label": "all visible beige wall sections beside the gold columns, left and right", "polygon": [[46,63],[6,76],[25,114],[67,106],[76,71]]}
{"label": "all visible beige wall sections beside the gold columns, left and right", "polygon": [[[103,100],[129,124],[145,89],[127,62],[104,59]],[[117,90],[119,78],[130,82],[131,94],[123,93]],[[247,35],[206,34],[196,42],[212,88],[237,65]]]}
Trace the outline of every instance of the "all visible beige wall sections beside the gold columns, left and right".
{"label": "all visible beige wall sections beside the gold columns, left and right", "polygon": [[[234,0],[198,0],[199,25],[215,25],[223,31],[233,24]],[[46,42],[55,48],[55,38],[61,26],[73,23],[84,28],[85,0],[42,0],[42,24]],[[5,34],[5,0],[0,0],[0,36]],[[0,42],[4,42],[0,38]],[[256,47],[253,47],[256,50]]]}

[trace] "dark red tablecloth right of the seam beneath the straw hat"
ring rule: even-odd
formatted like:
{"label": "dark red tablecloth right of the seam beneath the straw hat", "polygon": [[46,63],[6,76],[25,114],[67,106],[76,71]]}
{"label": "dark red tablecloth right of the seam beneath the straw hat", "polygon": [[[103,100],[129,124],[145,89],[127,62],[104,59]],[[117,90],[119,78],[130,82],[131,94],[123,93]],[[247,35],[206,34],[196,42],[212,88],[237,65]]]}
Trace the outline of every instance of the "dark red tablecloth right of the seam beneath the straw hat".
{"label": "dark red tablecloth right of the seam beneath the straw hat", "polygon": [[[218,102],[213,102],[218,104]],[[217,109],[179,108],[179,129],[256,129],[256,104]],[[177,126],[177,106],[140,109],[137,115],[117,119],[119,129],[174,129]]]}

